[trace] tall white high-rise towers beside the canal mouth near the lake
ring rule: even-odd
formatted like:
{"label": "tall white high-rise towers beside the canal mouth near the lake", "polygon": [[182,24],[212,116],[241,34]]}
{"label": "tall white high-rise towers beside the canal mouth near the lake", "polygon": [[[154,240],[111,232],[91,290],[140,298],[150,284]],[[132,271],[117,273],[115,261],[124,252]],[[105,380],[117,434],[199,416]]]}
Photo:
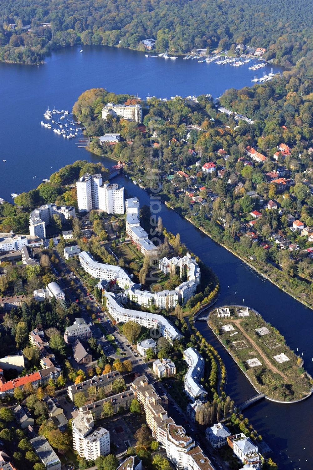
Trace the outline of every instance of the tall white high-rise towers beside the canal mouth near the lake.
{"label": "tall white high-rise towers beside the canal mouth near the lake", "polygon": [[99,209],[108,214],[124,213],[124,188],[103,183],[102,175],[86,173],[76,181],[77,204],[80,212]]}

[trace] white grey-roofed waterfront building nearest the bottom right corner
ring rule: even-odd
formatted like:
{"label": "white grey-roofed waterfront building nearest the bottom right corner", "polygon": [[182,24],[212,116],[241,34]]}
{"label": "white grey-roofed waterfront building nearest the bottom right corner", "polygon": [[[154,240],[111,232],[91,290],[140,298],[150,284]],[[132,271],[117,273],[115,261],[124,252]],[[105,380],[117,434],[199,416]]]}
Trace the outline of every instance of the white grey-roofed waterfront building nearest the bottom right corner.
{"label": "white grey-roofed waterfront building nearest the bottom right corner", "polygon": [[253,465],[255,469],[261,469],[264,458],[258,452],[257,446],[243,432],[227,437],[228,445],[233,449],[233,453],[245,465]]}

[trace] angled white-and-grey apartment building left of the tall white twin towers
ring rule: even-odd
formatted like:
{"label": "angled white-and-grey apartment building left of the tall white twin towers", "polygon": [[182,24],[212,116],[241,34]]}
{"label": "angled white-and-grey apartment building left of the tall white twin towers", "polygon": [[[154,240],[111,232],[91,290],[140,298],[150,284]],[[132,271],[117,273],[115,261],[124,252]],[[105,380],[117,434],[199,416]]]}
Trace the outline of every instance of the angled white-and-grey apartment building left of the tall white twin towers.
{"label": "angled white-and-grey apartment building left of the tall white twin towers", "polygon": [[29,216],[29,233],[32,236],[46,238],[46,227],[51,223],[54,215],[61,218],[62,223],[75,218],[75,208],[72,206],[57,206],[56,204],[45,204],[31,212]]}

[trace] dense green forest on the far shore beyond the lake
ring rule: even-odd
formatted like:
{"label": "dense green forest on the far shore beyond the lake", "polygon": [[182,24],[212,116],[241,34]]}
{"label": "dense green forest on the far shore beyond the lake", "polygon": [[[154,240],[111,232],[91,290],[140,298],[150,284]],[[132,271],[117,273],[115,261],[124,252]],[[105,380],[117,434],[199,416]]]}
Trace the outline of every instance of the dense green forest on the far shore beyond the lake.
{"label": "dense green forest on the far shore beyond the lake", "polygon": [[[37,63],[58,47],[108,45],[159,51],[265,47],[287,67],[311,58],[309,0],[7,0],[1,2],[0,60]],[[15,24],[16,26],[11,26]],[[47,25],[48,24],[48,25]]]}

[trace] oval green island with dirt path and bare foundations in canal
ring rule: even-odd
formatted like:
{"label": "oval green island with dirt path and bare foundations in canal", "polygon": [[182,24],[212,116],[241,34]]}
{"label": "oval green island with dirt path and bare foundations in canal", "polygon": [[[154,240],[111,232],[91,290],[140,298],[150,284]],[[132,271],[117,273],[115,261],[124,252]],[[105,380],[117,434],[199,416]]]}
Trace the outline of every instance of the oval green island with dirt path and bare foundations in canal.
{"label": "oval green island with dirt path and bare foundations in canal", "polygon": [[208,324],[258,393],[280,402],[311,395],[313,381],[302,358],[255,310],[220,307],[209,314]]}

